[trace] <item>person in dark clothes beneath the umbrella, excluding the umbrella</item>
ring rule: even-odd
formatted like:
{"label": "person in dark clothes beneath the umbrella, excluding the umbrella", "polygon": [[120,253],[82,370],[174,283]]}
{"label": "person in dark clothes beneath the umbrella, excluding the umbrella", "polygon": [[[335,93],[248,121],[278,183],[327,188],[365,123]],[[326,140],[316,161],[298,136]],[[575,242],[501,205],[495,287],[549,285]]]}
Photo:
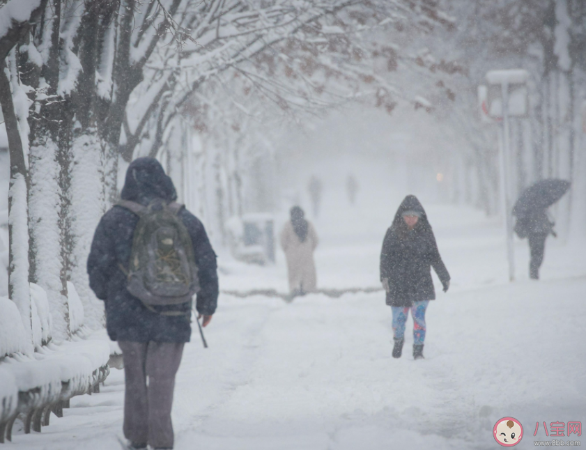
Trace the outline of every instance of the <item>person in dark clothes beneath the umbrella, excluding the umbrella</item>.
{"label": "person in dark clothes beneath the umbrella, excluding the umbrella", "polygon": [[543,254],[546,249],[548,235],[556,237],[546,209],[531,210],[525,215],[517,217],[515,232],[520,238],[528,238],[530,250],[529,277],[539,279],[539,267],[543,263]]}

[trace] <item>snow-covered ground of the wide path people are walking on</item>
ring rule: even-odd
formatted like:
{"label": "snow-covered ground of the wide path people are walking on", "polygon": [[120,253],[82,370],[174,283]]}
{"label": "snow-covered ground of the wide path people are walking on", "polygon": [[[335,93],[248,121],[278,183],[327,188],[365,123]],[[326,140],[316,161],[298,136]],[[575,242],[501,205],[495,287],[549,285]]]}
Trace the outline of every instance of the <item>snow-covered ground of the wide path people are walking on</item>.
{"label": "snow-covered ground of the wide path people are walking on", "polygon": [[[321,287],[378,286],[380,243],[399,201],[325,205],[316,219]],[[176,449],[496,449],[493,425],[507,416],[525,427],[517,448],[528,449],[551,439],[543,425],[533,437],[537,422],[585,421],[586,242],[548,240],[539,282],[527,279],[527,244],[517,242],[509,284],[498,219],[426,206],[452,287],[436,286],[424,360],[412,360],[410,333],[403,357],[390,356],[382,293],[291,304],[222,295],[210,348],[197,329],[185,348]],[[283,260],[263,268],[220,258],[222,289],[286,291]],[[116,448],[123,389],[123,372],[112,370],[100,394],[73,398],[63,419],[7,448]]]}

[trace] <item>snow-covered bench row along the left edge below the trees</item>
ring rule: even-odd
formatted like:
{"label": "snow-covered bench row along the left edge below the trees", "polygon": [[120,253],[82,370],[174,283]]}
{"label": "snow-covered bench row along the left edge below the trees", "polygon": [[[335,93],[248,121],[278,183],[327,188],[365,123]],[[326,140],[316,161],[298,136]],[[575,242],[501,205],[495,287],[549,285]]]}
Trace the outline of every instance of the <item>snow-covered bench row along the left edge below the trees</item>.
{"label": "snow-covered bench row along the left edge below the trees", "polygon": [[[45,306],[41,299],[33,315]],[[57,345],[43,329],[50,327],[50,320],[40,316],[33,318],[40,327],[33,335],[42,345],[36,343],[33,349],[16,305],[0,297],[0,443],[12,440],[17,417],[24,421],[24,433],[40,431],[49,424],[51,412],[62,417],[70,398],[99,392],[100,382],[109,375],[107,341],[92,339],[81,329],[72,341]]]}

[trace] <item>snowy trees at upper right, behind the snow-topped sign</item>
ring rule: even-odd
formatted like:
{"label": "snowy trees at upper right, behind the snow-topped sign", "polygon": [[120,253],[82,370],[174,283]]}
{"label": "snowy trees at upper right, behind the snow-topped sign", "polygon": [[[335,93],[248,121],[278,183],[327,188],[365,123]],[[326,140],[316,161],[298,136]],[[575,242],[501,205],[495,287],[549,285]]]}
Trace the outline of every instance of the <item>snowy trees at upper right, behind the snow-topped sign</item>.
{"label": "snowy trees at upper right, behind the snow-topped sign", "polygon": [[[515,197],[541,178],[579,181],[585,168],[583,114],[586,100],[586,3],[580,0],[475,0],[448,2],[458,18],[458,31],[429,43],[433,52],[461,61],[464,71],[452,79],[455,102],[440,104],[442,120],[467,139],[463,160],[472,176],[475,204],[493,213],[498,210],[497,125],[481,121],[477,86],[486,84],[488,70],[524,68],[530,112],[511,127],[511,194]],[[567,221],[584,210],[576,203],[584,189],[575,183],[562,202]],[[572,198],[573,195],[573,198]]]}

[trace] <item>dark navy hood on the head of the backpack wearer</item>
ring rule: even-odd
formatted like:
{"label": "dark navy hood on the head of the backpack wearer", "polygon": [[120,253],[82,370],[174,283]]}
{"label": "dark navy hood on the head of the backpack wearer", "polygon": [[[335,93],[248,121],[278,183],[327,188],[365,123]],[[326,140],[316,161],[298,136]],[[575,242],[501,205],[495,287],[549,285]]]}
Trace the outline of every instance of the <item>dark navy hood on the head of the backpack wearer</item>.
{"label": "dark navy hood on the head of the backpack wearer", "polygon": [[141,157],[128,166],[121,197],[123,200],[148,205],[154,199],[174,201],[177,199],[177,192],[160,162],[155,158]]}

